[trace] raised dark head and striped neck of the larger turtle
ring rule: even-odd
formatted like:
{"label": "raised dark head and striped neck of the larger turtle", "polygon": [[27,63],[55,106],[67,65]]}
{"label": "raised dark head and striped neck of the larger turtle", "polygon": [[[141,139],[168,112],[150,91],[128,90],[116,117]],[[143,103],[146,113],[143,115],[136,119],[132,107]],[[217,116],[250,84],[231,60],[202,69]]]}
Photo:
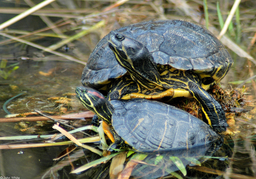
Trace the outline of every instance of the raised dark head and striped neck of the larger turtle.
{"label": "raised dark head and striped neck of the larger turtle", "polygon": [[157,64],[147,47],[119,32],[111,31],[109,48],[114,52],[117,62],[132,78],[146,88],[154,88],[159,82]]}

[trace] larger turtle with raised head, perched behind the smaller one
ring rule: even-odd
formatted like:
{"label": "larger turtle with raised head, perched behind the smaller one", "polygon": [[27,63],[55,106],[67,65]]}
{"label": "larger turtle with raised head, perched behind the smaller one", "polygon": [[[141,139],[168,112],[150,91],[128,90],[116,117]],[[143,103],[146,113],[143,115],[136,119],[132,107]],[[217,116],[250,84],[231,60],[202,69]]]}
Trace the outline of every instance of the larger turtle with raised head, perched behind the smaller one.
{"label": "larger turtle with raised head, perched behind the smaller one", "polygon": [[148,21],[119,28],[100,40],[81,80],[84,86],[107,91],[109,99],[194,97],[204,121],[215,131],[225,131],[224,111],[205,90],[232,64],[221,42],[203,26],[185,20]]}

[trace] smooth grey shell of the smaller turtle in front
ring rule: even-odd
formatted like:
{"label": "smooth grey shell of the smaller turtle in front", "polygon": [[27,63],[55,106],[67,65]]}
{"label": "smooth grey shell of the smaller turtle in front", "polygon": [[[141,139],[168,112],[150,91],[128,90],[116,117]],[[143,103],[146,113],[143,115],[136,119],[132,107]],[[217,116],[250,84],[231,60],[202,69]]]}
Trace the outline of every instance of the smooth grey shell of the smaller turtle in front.
{"label": "smooth grey shell of the smaller turtle in front", "polygon": [[140,152],[187,148],[219,138],[203,121],[158,101],[135,98],[110,102],[114,130]]}

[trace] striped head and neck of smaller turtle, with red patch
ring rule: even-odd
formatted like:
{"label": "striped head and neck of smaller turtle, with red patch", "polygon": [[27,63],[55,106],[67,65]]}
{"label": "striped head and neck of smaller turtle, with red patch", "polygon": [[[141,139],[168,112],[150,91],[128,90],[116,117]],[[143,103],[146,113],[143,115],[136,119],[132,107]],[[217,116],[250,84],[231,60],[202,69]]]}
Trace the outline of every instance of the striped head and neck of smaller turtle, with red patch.
{"label": "striped head and neck of smaller turtle, with red patch", "polygon": [[79,86],[76,87],[76,98],[101,120],[111,124],[111,112],[108,107],[110,104],[103,94],[92,88]]}

